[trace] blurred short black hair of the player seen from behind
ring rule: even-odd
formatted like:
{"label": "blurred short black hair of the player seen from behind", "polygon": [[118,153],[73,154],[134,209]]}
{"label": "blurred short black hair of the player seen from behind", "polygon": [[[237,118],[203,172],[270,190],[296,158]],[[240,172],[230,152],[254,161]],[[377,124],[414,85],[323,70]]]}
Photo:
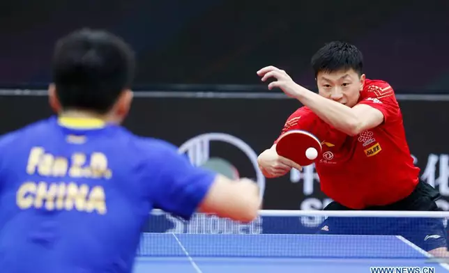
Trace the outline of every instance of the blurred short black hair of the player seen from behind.
{"label": "blurred short black hair of the player seen from behind", "polygon": [[134,73],[130,45],[107,31],[80,29],[56,42],[52,77],[63,109],[107,113]]}

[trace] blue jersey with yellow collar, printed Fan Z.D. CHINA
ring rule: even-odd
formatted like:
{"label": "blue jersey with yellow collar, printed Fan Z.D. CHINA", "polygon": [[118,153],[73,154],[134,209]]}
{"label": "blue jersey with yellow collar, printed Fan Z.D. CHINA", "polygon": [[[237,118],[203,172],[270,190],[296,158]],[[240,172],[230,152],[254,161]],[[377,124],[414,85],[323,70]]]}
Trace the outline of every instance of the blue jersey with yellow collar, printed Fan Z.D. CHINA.
{"label": "blue jersey with yellow collar, printed Fan Z.D. CHINA", "polygon": [[175,146],[52,117],[0,139],[0,271],[131,272],[152,208],[188,219],[215,179]]}

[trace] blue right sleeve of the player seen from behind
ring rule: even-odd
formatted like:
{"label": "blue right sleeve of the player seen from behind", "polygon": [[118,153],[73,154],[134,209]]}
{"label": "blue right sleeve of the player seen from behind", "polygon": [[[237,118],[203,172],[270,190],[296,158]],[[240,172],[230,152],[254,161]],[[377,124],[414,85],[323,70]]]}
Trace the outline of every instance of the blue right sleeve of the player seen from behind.
{"label": "blue right sleeve of the player seen from behind", "polygon": [[[158,149],[159,150],[159,149]],[[190,219],[206,196],[215,180],[216,173],[192,166],[174,146],[165,144],[159,150],[157,163],[152,164],[158,172],[151,181],[151,196],[155,207]]]}

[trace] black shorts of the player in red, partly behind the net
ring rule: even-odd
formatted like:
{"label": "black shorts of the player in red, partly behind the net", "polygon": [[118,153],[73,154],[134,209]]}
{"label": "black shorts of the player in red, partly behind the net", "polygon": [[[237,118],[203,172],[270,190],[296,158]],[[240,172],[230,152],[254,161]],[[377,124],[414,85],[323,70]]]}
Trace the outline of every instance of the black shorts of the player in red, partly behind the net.
{"label": "black shorts of the player in red, partly behind the net", "polygon": [[[365,208],[364,210],[438,211],[435,201],[439,192],[427,183],[420,182],[413,192],[396,203]],[[331,202],[324,210],[351,210]],[[335,235],[400,235],[421,249],[429,251],[447,247],[447,233],[443,219],[418,217],[328,217],[319,234]]]}

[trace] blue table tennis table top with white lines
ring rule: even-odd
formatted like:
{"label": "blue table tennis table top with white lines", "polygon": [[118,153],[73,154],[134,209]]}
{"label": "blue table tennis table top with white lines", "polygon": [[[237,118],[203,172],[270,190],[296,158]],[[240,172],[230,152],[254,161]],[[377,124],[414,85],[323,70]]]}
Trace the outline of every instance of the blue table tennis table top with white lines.
{"label": "blue table tennis table top with white lines", "polygon": [[449,272],[448,265],[430,261],[423,249],[401,236],[185,233],[143,236],[140,249],[144,254],[138,256],[133,273],[363,273],[372,272],[370,267],[418,267],[420,271],[411,272],[424,273],[424,267],[433,267],[433,272]]}

